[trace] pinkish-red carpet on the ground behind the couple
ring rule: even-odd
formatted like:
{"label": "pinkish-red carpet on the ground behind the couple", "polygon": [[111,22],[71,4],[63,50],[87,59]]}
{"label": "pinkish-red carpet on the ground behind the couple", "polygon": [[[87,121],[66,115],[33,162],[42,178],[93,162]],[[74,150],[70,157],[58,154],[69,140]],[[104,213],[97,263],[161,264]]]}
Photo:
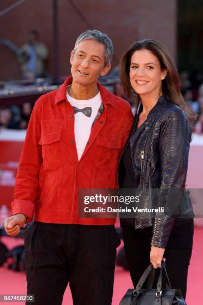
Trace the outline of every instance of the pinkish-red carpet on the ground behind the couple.
{"label": "pinkish-red carpet on the ground behind the couple", "polygon": [[[2,242],[5,242],[9,248],[22,244],[21,240],[4,237]],[[188,293],[187,305],[202,305],[202,287],[203,287],[203,227],[195,228],[194,249],[189,268],[188,277]],[[115,281],[113,291],[112,305],[118,305],[124,293],[128,288],[132,288],[129,273],[122,268],[116,267]],[[26,279],[25,274],[20,272],[13,272],[5,267],[0,267],[0,294],[25,294],[26,293]],[[22,304],[22,303],[9,303]],[[64,295],[63,305],[73,305],[69,287],[66,289]]]}

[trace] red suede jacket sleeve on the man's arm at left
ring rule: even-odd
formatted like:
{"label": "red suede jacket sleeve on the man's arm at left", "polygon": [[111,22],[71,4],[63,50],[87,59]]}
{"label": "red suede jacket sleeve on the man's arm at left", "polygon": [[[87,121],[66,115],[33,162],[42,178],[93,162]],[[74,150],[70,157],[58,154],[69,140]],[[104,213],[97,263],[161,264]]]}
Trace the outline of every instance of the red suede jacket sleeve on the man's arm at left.
{"label": "red suede jacket sleeve on the man's arm at left", "polygon": [[40,99],[30,117],[23,149],[20,155],[16,175],[14,201],[11,203],[12,213],[25,214],[28,221],[34,214],[34,203],[38,192],[39,171],[42,163],[41,147],[41,105]]}

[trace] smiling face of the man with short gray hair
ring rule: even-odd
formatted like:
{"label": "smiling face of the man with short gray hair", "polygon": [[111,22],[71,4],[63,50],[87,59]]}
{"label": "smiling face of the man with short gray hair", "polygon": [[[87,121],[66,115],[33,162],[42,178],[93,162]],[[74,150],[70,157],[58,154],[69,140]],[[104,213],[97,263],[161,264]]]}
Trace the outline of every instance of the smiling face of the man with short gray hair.
{"label": "smiling face of the man with short gray hair", "polygon": [[73,81],[81,86],[95,85],[110,69],[110,65],[105,66],[105,46],[91,39],[79,43],[71,52],[70,62]]}

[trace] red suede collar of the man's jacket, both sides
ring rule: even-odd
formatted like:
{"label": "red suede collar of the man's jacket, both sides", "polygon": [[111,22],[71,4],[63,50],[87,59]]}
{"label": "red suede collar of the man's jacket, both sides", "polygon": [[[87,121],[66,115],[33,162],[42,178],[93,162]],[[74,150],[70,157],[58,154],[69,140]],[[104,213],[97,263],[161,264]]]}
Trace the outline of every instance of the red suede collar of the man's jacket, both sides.
{"label": "red suede collar of the man's jacket, both sides", "polygon": [[[66,100],[67,86],[71,85],[72,81],[73,81],[73,77],[72,76],[68,77],[65,80],[65,82],[61,85],[61,87],[59,89],[57,89],[54,105],[56,105],[57,103],[59,103],[61,101]],[[111,105],[113,108],[115,108],[116,103],[115,103],[115,100],[113,99],[112,94],[108,90],[106,90],[99,82],[97,82],[97,86],[100,90],[104,108],[106,105]]]}

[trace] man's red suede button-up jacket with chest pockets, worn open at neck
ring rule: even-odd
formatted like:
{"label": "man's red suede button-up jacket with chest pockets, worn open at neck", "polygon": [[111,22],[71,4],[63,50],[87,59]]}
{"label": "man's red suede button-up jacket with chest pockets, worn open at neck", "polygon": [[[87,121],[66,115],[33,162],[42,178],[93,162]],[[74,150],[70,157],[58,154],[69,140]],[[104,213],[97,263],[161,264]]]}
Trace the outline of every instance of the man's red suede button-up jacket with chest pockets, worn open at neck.
{"label": "man's red suede button-up jacket with chest pockets, worn open at neck", "polygon": [[30,118],[15,182],[13,215],[46,223],[110,225],[115,219],[78,217],[79,188],[117,188],[117,165],[133,122],[130,105],[103,88],[104,110],[78,161],[74,112],[66,98],[69,77],[42,95]]}

